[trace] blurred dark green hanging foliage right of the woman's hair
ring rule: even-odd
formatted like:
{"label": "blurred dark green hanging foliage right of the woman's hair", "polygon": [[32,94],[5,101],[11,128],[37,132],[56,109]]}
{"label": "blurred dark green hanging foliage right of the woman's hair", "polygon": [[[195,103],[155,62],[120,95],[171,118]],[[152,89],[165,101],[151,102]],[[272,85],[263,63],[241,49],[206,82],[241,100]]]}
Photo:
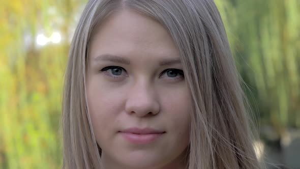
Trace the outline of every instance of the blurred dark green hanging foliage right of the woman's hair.
{"label": "blurred dark green hanging foliage right of the woman's hair", "polygon": [[300,2],[216,3],[261,124],[272,125],[279,134],[286,127],[300,127]]}

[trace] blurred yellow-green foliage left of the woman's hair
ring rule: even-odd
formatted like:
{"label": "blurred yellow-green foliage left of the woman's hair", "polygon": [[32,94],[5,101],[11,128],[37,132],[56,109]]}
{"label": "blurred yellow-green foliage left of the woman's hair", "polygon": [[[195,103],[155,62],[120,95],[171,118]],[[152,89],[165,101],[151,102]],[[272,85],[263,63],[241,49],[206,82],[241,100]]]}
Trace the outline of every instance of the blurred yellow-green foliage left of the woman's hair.
{"label": "blurred yellow-green foliage left of the woman's hair", "polygon": [[[61,168],[59,118],[69,39],[85,1],[0,6],[0,168]],[[38,46],[43,33],[60,44]]]}

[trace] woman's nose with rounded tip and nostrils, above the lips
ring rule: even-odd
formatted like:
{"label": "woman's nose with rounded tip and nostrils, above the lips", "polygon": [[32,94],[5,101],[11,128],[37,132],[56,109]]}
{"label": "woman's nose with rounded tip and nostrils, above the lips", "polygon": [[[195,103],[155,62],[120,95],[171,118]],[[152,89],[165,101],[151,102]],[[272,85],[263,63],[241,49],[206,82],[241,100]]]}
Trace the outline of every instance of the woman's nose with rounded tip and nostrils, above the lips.
{"label": "woman's nose with rounded tip and nostrils, above the lips", "polygon": [[157,115],[160,104],[155,89],[145,84],[133,86],[128,93],[125,111],[138,117]]}

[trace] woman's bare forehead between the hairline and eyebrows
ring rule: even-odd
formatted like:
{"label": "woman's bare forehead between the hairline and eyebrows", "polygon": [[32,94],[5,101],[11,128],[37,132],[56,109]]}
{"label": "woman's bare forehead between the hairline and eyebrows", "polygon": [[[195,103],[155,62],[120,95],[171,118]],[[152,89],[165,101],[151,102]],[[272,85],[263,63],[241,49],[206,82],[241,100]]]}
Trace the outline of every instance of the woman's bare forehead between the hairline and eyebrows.
{"label": "woman's bare forehead between the hairline and eyebrows", "polygon": [[179,57],[168,31],[157,21],[137,12],[118,11],[106,18],[97,29],[89,46],[91,58],[103,54],[121,57],[148,55],[153,59],[167,57],[173,60]]}

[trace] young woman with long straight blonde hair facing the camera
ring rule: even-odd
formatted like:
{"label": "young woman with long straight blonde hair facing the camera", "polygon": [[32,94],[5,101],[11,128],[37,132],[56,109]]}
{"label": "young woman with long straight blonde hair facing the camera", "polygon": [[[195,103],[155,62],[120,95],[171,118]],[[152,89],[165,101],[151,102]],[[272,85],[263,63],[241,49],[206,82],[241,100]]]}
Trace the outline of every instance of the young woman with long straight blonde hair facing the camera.
{"label": "young woman with long straight blonde hair facing the camera", "polygon": [[259,168],[213,0],[89,1],[63,100],[64,168]]}

